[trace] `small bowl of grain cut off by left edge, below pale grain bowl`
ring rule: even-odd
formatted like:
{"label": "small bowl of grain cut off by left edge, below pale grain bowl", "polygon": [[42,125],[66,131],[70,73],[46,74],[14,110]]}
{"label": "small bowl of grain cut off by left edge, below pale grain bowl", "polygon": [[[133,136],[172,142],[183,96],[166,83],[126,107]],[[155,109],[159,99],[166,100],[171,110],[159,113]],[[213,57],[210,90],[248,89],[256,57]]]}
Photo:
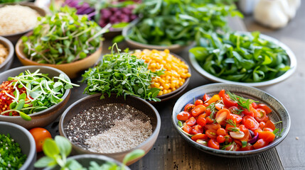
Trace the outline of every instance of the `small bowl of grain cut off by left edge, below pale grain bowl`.
{"label": "small bowl of grain cut off by left edge, below pale grain bowl", "polygon": [[0,36],[0,72],[11,67],[14,60],[14,46],[8,39]]}

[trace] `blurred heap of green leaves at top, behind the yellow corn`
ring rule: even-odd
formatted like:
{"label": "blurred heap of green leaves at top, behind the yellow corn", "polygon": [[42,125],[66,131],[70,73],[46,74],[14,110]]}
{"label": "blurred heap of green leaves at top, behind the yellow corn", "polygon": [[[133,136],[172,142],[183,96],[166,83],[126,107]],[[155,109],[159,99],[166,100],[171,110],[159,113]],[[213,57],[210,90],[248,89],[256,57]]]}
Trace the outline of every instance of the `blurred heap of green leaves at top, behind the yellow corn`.
{"label": "blurred heap of green leaves at top, behind the yellow corn", "polygon": [[232,1],[144,0],[136,11],[142,18],[127,38],[150,45],[188,45],[202,30],[227,30],[226,16],[242,16]]}

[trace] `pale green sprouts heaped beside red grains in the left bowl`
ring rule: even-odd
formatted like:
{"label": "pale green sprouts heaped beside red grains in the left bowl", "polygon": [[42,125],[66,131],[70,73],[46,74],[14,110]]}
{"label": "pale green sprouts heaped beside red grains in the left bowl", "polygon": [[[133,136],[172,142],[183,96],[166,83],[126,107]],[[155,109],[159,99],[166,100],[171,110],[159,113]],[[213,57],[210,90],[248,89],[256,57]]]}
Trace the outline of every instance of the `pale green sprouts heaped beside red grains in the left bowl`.
{"label": "pale green sprouts heaped beside red grains in the left bowl", "polygon": [[[58,79],[58,81],[55,81]],[[17,77],[9,77],[11,82],[10,86],[14,88],[14,96],[7,94],[14,99],[9,105],[9,110],[3,111],[0,114],[17,112],[24,120],[31,120],[29,116],[31,113],[43,111],[50,106],[63,101],[61,96],[65,93],[66,89],[71,89],[73,86],[79,86],[73,84],[69,79],[65,79],[63,74],[59,77],[53,77],[50,79],[48,74],[40,73],[40,69],[31,73],[27,70],[24,73],[19,74]],[[18,90],[21,88],[26,89],[26,93],[20,94]]]}

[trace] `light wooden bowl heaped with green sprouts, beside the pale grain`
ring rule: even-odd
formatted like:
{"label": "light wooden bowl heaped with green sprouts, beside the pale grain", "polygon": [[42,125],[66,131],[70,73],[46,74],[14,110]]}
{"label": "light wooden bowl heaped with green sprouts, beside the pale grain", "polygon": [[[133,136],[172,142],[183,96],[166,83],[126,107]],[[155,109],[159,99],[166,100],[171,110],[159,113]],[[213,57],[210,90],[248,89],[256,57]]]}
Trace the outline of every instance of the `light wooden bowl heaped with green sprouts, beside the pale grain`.
{"label": "light wooden bowl heaped with green sprouts, beside the pale grain", "polygon": [[16,55],[23,65],[55,67],[73,79],[91,67],[102,53],[102,34],[109,26],[100,28],[88,16],[78,16],[68,6],[53,16],[39,17],[39,25],[18,40]]}

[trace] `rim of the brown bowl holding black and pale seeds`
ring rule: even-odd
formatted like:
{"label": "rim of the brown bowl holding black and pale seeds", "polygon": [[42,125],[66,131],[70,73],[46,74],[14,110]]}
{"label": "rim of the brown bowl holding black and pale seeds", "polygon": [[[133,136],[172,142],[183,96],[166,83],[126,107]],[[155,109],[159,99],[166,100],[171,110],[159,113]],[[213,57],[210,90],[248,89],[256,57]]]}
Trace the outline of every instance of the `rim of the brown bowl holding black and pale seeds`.
{"label": "rim of the brown bowl holding black and pale seeds", "polygon": [[[66,135],[66,132],[63,128],[63,119],[65,118],[65,116],[68,114],[68,112],[71,110],[71,108],[73,108],[74,106],[76,106],[78,103],[81,103],[82,101],[85,101],[85,100],[90,100],[90,98],[95,98],[95,97],[100,97],[102,94],[92,94],[90,96],[85,96],[84,98],[80,98],[78,101],[75,101],[74,103],[72,103],[68,108],[65,109],[65,111],[63,112],[63,114],[61,115],[60,117],[60,120],[59,120],[59,126],[58,126],[58,129],[59,129],[59,132],[60,132],[60,135],[67,138],[67,135]],[[116,96],[116,94],[111,94],[111,96]],[[119,96],[119,97],[123,97],[123,96]],[[149,108],[151,108],[153,110],[153,112],[155,113],[156,115],[156,129],[154,130],[154,132],[152,132],[152,134],[149,136],[149,138],[147,138],[144,142],[142,142],[141,144],[137,145],[137,147],[133,147],[132,149],[128,149],[126,151],[123,151],[123,152],[115,152],[115,153],[98,153],[98,152],[91,152],[87,149],[83,149],[82,147],[78,146],[78,145],[75,145],[73,142],[71,142],[69,139],[69,141],[71,142],[71,144],[76,147],[77,149],[81,150],[82,152],[86,152],[88,154],[102,154],[102,155],[105,155],[105,156],[109,156],[109,155],[114,155],[114,154],[128,154],[129,152],[132,152],[134,149],[139,149],[140,147],[143,147],[145,145],[147,145],[151,140],[153,140],[153,138],[155,136],[158,136],[159,135],[159,131],[160,131],[160,128],[161,128],[161,118],[160,118],[160,115],[159,115],[159,112],[156,110],[156,108],[154,108],[154,106],[151,105],[151,103],[149,103],[148,101],[145,101],[143,98],[139,98],[139,97],[135,97],[135,96],[130,96],[128,95],[127,96],[127,99],[131,97],[131,98],[134,98],[136,100],[139,100],[139,103],[142,102],[142,103],[145,103],[147,106],[149,106]]]}

